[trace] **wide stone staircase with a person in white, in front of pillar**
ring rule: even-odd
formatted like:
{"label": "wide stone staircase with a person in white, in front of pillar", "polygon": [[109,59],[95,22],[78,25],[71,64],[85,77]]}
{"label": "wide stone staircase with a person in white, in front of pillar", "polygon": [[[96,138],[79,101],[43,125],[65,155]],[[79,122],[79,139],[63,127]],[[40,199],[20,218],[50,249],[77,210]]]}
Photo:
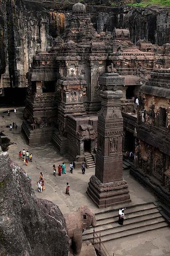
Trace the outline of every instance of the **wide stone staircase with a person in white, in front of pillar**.
{"label": "wide stone staircase with a person in white, in front of pillar", "polygon": [[[124,211],[124,224],[118,224],[118,210],[108,210],[95,214],[97,224],[95,232],[98,237],[101,233],[101,241],[106,242],[125,236],[135,235],[146,231],[160,229],[168,226],[159,212],[159,207],[154,203],[146,203],[128,207]],[[93,239],[93,228],[88,228],[83,233],[83,240]],[[97,240],[95,239],[95,242]]]}

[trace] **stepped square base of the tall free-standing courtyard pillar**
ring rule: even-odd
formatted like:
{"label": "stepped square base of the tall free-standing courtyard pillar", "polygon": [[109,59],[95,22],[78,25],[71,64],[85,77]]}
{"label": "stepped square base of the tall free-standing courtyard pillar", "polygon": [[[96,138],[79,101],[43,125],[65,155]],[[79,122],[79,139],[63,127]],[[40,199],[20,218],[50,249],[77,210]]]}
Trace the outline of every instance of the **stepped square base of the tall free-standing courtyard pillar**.
{"label": "stepped square base of the tall free-standing courtyard pillar", "polygon": [[86,192],[98,208],[130,203],[128,183],[123,179],[102,183],[95,175],[91,176]]}

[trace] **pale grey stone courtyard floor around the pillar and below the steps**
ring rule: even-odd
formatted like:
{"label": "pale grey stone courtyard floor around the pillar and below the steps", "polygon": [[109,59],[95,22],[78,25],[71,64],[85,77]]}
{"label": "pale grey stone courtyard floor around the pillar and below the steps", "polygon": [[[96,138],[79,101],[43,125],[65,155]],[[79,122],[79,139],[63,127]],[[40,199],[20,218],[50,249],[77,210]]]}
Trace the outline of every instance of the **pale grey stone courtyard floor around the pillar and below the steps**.
{"label": "pale grey stone courtyard floor around the pillar and below the steps", "polygon": [[[90,177],[95,174],[95,168],[86,169],[85,175],[82,175],[81,168],[73,169],[73,174],[70,173],[69,164],[73,161],[68,154],[61,155],[53,147],[51,143],[36,144],[28,146],[21,133],[22,112],[24,107],[18,107],[17,113],[13,113],[8,117],[8,108],[0,108],[0,131],[4,134],[1,138],[8,138],[12,143],[8,146],[8,153],[13,161],[21,166],[32,179],[32,187],[37,197],[48,199],[57,204],[61,212],[69,213],[78,209],[80,205],[87,205],[94,213],[104,211],[106,209],[98,209],[86,194]],[[18,130],[10,131],[10,123],[16,122]],[[19,160],[19,151],[25,149],[33,154],[33,162],[28,162],[28,166]],[[62,162],[66,165],[66,175],[62,174],[56,177],[53,176],[53,164],[58,167]],[[42,172],[45,181],[45,190],[42,193],[38,192],[37,181],[39,174]],[[133,177],[129,175],[129,170],[123,172],[124,178],[128,181],[131,203],[124,207],[134,206],[147,202],[155,202],[158,199],[148,192],[144,187],[138,184]],[[70,196],[66,195],[66,183],[70,185]],[[111,207],[109,209],[118,209],[120,206]],[[126,221],[126,220],[124,220]],[[112,256],[170,256],[170,228],[163,228],[155,231],[148,231],[139,235],[120,238],[114,241],[106,242],[104,245]]]}

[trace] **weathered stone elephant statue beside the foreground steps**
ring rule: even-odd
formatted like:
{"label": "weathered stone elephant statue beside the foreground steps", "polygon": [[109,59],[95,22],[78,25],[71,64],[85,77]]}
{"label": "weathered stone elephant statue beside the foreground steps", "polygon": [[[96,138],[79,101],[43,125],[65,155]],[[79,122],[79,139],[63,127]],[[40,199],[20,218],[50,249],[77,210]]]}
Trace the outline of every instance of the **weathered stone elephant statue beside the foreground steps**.
{"label": "weathered stone elephant statue beside the foreground steps", "polygon": [[80,206],[76,212],[63,214],[68,228],[68,236],[72,239],[74,256],[80,255],[83,231],[96,225],[95,214],[87,207]]}

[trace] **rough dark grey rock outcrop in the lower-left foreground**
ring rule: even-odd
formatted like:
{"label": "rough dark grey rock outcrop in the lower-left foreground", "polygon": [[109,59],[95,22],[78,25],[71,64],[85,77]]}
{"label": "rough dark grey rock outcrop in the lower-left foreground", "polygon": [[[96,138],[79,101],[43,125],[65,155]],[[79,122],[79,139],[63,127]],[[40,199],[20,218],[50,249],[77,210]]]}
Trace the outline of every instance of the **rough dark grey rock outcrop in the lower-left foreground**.
{"label": "rough dark grey rock outcrop in the lower-left foreground", "polygon": [[60,209],[36,198],[28,175],[0,153],[0,255],[68,256],[69,238]]}

